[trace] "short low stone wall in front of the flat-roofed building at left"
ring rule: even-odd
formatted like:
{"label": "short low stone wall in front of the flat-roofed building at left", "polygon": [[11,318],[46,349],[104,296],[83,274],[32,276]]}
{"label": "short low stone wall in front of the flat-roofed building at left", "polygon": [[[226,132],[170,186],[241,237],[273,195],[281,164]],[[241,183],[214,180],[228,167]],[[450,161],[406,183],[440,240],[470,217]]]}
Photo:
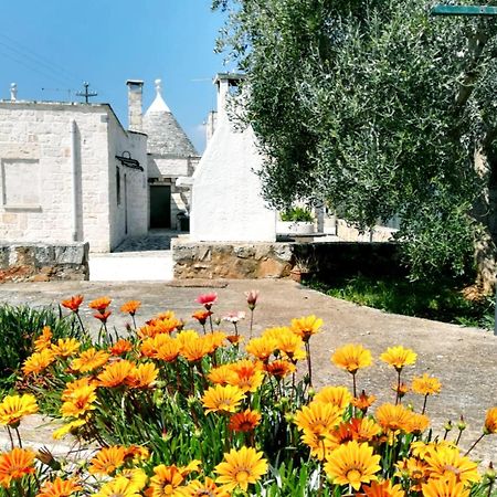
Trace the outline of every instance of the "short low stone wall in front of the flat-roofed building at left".
{"label": "short low stone wall in front of the flat-roofed building at left", "polygon": [[1,243],[0,283],[88,279],[87,243]]}

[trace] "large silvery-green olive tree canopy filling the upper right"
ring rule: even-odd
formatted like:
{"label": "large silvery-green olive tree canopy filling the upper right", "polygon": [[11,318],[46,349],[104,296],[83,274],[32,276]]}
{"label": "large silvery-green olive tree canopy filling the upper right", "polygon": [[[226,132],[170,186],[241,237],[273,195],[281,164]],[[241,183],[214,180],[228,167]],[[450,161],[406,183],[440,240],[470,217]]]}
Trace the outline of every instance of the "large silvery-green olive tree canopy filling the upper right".
{"label": "large silvery-green olive tree canopy filling the upper right", "polygon": [[497,20],[434,19],[424,0],[213,7],[273,207],[326,202],[360,228],[399,214],[417,276],[462,272],[477,244],[493,267]]}

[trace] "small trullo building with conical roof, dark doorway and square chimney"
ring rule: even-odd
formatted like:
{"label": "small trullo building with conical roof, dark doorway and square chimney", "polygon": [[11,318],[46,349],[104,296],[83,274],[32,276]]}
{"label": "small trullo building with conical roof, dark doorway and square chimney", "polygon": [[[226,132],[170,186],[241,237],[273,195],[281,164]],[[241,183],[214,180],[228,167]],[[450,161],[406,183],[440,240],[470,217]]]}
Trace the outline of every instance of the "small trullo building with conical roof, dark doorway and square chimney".
{"label": "small trullo building with conical roof, dark doorway and square chimney", "polygon": [[200,156],[166,104],[161,81],[155,83],[156,97],[142,115],[144,83],[128,81],[129,127],[148,136],[149,228],[181,230],[190,191],[177,186],[177,179],[191,177]]}

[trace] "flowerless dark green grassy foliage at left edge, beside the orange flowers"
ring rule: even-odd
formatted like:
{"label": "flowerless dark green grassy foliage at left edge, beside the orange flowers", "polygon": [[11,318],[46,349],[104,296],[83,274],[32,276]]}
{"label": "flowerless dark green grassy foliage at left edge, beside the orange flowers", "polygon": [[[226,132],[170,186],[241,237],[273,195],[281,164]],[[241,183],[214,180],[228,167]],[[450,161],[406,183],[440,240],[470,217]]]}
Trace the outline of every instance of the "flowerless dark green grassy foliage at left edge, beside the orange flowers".
{"label": "flowerless dark green grassy foliage at left edge, beside the orange flowers", "polygon": [[0,306],[0,387],[14,383],[20,366],[33,352],[33,340],[44,326],[52,328],[54,338],[78,334],[72,319],[62,319],[52,308]]}

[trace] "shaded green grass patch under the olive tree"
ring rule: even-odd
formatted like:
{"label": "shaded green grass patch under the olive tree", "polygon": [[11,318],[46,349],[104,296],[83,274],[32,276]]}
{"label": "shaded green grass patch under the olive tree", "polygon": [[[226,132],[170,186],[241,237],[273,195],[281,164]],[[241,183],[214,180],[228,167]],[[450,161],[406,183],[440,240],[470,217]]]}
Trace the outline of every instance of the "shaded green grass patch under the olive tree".
{"label": "shaded green grass patch under the olive tree", "polygon": [[387,313],[416,316],[436,321],[479,328],[494,328],[494,298],[467,300],[465,285],[453,281],[409,282],[402,277],[355,276],[324,283],[314,279],[308,286],[331,297],[342,298]]}

